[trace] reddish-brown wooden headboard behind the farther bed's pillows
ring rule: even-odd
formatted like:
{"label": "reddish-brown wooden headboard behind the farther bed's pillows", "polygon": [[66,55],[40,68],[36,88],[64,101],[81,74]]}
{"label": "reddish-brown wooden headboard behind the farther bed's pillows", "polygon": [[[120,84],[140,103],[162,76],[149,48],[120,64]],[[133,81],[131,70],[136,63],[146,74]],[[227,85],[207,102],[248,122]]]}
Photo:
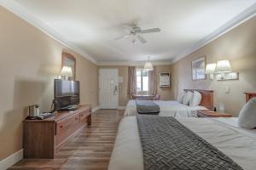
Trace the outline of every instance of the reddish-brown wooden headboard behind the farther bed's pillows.
{"label": "reddish-brown wooden headboard behind the farther bed's pillows", "polygon": [[184,89],[184,91],[186,91],[186,92],[198,91],[199,93],[201,93],[200,105],[206,107],[209,110],[212,110],[212,108],[213,108],[213,90]]}

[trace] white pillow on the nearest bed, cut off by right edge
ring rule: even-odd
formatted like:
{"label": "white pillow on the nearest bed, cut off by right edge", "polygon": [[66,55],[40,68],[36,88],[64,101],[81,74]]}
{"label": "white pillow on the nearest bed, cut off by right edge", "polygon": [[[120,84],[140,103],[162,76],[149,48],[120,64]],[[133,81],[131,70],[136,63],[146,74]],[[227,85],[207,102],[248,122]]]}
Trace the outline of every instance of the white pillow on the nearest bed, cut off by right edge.
{"label": "white pillow on the nearest bed, cut off by right edge", "polygon": [[256,98],[247,101],[238,116],[238,126],[253,129],[256,127]]}

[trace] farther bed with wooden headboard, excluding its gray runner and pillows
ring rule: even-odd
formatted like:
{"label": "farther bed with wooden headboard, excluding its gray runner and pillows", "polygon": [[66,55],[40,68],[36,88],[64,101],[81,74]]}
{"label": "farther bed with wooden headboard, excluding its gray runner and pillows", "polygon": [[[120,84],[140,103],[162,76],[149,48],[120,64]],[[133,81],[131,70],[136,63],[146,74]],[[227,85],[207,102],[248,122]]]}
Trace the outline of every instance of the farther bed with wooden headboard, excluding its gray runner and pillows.
{"label": "farther bed with wooden headboard, excluding its gray runner and pillows", "polygon": [[[184,91],[197,91],[201,93],[201,103],[197,106],[189,106],[178,103],[175,100],[153,100],[154,104],[160,107],[160,116],[172,117],[192,117],[196,110],[212,109],[213,107],[213,91],[212,90],[199,90],[199,89],[184,89]],[[136,100],[130,100],[125,108],[124,116],[136,116],[137,104]]]}

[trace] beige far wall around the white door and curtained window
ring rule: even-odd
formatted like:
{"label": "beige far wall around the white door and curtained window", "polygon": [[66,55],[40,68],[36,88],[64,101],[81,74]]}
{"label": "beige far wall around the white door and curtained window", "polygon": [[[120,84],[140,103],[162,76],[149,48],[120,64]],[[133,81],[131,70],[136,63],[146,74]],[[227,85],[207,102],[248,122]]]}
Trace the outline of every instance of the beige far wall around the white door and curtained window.
{"label": "beige far wall around the white door and curtained window", "polygon": [[[101,68],[117,68],[119,70],[119,77],[123,77],[123,82],[119,83],[119,106],[125,106],[130,99],[130,96],[127,95],[127,88],[128,88],[128,66],[126,65],[100,65],[98,66],[99,69]],[[161,95],[161,99],[172,99],[172,91],[171,88],[159,88],[159,74],[160,71],[163,72],[171,72],[170,65],[157,65],[157,84],[158,89],[157,93]]]}

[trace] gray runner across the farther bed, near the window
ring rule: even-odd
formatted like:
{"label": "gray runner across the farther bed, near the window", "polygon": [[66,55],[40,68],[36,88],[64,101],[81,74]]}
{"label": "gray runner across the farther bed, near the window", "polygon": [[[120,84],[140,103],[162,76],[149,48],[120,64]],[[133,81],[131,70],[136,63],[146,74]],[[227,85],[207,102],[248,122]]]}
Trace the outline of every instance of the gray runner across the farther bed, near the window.
{"label": "gray runner across the farther bed, near the window", "polygon": [[137,99],[136,105],[138,114],[158,115],[160,113],[160,107],[152,100]]}

